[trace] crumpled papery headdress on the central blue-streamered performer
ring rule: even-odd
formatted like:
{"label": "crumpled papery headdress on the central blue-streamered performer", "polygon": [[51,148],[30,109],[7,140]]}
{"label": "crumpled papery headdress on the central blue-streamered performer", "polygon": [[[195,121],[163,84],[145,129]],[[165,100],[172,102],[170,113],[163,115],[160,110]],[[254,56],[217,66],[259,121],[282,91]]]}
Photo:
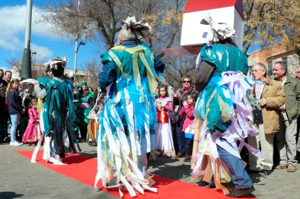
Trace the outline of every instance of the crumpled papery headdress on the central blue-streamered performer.
{"label": "crumpled papery headdress on the central blue-streamered performer", "polygon": [[144,24],[142,21],[137,22],[136,17],[128,17],[125,21],[123,20],[124,25],[122,28],[131,29],[136,37],[141,41],[145,42],[147,39],[152,37],[151,27],[148,23]]}

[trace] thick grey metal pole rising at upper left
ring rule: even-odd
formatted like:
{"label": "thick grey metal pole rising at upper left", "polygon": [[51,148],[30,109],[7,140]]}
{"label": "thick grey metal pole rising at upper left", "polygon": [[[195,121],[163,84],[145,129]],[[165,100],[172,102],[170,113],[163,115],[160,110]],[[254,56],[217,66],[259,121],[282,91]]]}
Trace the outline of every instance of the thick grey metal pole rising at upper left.
{"label": "thick grey metal pole rising at upper left", "polygon": [[26,3],[26,29],[25,29],[25,47],[23,53],[21,77],[31,78],[31,60],[30,60],[30,43],[31,43],[31,13],[32,0]]}

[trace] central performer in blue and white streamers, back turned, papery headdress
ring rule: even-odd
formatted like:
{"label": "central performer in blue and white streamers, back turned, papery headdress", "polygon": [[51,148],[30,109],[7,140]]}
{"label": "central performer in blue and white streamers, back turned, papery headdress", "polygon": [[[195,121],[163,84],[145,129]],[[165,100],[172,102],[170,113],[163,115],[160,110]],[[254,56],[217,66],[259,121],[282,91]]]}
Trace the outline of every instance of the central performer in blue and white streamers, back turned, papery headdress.
{"label": "central performer in blue and white streamers, back turned, papery headdress", "polygon": [[118,46],[101,55],[99,73],[99,86],[108,93],[99,120],[95,186],[100,178],[105,187],[124,184],[131,196],[135,191],[144,194],[144,189],[156,191],[146,172],[146,153],[155,147],[155,77],[164,63],[143,43],[146,38],[148,24],[128,17],[117,35]]}

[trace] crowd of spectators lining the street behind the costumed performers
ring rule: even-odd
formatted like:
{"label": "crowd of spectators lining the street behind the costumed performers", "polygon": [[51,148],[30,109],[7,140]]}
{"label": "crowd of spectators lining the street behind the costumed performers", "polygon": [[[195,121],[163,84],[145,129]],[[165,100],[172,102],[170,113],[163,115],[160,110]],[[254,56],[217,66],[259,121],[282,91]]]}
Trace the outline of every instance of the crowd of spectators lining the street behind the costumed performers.
{"label": "crowd of spectators lining the street behind the costumed performers", "polygon": [[[270,175],[273,169],[294,172],[300,158],[296,149],[300,127],[300,67],[295,69],[295,77],[288,76],[286,71],[284,62],[276,62],[272,79],[267,76],[264,64],[256,63],[252,66],[254,79],[258,81],[250,91],[250,97],[255,98],[256,104],[261,107],[261,118],[254,117],[254,125],[259,133],[255,137],[249,136],[248,143],[259,149],[263,157],[258,158],[246,152],[249,156],[246,160],[249,163],[249,173],[262,172]],[[64,78],[74,83],[73,73],[65,74]],[[35,146],[41,139],[38,95],[32,91],[22,103],[24,92],[20,82],[25,79],[12,79],[11,71],[0,69],[1,142],[10,141],[13,146],[25,143]],[[155,149],[159,156],[184,157],[184,161],[190,162],[193,138],[186,137],[185,132],[194,120],[198,92],[193,87],[191,76],[184,76],[181,82],[183,88],[177,91],[163,84],[157,87]],[[73,89],[76,114],[73,131],[76,142],[96,144],[98,124],[95,119],[105,102],[105,97],[97,98],[98,93],[98,89],[94,92],[86,82]]]}

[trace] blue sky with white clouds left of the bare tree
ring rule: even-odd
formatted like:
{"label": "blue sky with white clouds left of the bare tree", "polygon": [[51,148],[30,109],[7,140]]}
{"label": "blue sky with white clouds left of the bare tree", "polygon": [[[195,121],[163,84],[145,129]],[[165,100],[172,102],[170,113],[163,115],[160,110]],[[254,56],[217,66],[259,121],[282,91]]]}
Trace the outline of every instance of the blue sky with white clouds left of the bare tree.
{"label": "blue sky with white clouds left of the bare tree", "polygon": [[[50,32],[50,25],[35,23],[40,19],[39,7],[44,6],[44,2],[32,1],[31,51],[37,53],[32,59],[36,63],[45,63],[53,57],[67,56],[67,68],[74,68],[75,41]],[[26,0],[0,0],[0,68],[3,70],[11,68],[7,60],[22,60],[25,23]],[[86,45],[80,47],[77,55],[78,69],[84,66],[85,61],[93,58],[100,60],[97,47],[88,41],[84,42]]]}

